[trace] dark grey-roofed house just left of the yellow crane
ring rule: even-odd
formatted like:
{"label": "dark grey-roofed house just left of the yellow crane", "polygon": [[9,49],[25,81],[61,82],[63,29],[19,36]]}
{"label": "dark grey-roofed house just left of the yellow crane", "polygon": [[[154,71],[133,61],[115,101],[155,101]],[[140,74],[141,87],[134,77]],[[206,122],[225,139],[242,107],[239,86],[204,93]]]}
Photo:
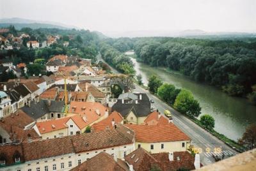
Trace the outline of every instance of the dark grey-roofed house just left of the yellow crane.
{"label": "dark grey-roofed house just left of the yellow crane", "polygon": [[28,105],[20,108],[20,110],[28,114],[35,121],[44,121],[64,117],[64,104],[64,101],[31,101]]}

